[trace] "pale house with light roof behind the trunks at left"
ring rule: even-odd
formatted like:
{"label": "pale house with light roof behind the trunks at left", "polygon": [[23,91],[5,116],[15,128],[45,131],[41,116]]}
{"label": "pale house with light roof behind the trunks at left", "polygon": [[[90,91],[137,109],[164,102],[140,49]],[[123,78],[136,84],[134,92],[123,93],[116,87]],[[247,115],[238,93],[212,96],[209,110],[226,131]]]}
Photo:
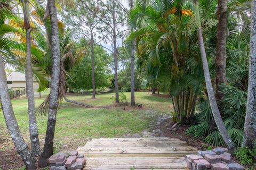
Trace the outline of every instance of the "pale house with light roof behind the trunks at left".
{"label": "pale house with light roof behind the trunks at left", "polygon": [[[26,89],[26,76],[20,72],[11,72],[7,73],[7,86],[8,89],[17,90],[17,89]],[[39,88],[39,83],[33,79],[34,91],[37,91]]]}

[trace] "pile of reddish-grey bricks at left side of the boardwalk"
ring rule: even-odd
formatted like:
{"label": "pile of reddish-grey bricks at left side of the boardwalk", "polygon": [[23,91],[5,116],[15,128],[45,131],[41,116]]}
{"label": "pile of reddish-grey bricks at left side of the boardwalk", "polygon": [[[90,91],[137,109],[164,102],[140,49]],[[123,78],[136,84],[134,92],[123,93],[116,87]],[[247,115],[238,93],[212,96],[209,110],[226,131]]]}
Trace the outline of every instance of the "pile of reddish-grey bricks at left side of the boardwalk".
{"label": "pile of reddish-grey bricks at left side of the boardwalk", "polygon": [[84,164],[84,154],[78,155],[76,150],[68,154],[54,154],[49,158],[50,170],[78,170],[83,169]]}

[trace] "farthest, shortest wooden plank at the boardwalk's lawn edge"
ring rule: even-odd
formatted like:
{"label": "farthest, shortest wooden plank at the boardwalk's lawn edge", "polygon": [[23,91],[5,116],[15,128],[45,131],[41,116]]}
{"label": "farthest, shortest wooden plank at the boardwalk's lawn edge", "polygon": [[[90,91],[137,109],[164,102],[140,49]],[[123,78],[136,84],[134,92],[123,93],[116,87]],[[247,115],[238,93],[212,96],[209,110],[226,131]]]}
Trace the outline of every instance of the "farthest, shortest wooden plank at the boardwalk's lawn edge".
{"label": "farthest, shortest wooden plank at the boardwalk's lawn edge", "polygon": [[98,138],[92,139],[91,141],[120,141],[120,142],[129,142],[129,141],[159,141],[159,140],[180,140],[178,138]]}

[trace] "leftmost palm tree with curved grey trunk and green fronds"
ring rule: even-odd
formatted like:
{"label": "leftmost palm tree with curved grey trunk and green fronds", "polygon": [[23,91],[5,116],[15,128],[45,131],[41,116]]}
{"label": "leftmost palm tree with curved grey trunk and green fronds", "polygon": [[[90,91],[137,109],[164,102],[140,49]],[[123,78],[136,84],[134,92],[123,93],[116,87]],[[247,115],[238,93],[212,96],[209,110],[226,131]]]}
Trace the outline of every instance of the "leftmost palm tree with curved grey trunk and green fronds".
{"label": "leftmost palm tree with curved grey trunk and green fronds", "polygon": [[[5,25],[4,21],[6,18],[12,19],[15,16],[12,14],[11,6],[9,1],[2,1],[0,6],[0,29],[2,31],[0,34],[0,97],[1,104],[3,109],[3,114],[5,118],[5,123],[7,125],[7,129],[11,134],[12,141],[14,143],[15,148],[18,151],[18,154],[21,156],[23,163],[26,165],[27,169],[36,169],[35,158],[34,155],[30,152],[25,140],[22,137],[22,134],[19,130],[19,125],[13,113],[13,108],[11,104],[11,99],[8,92],[7,81],[5,77],[5,66],[4,61],[6,58],[4,56],[13,56],[14,54],[11,52],[11,47],[15,48],[17,45],[13,41],[8,40],[7,38],[3,38],[5,33],[9,32],[18,32],[18,30],[10,27],[10,25]],[[5,59],[5,60],[4,60]],[[8,59],[8,58],[7,58]]]}

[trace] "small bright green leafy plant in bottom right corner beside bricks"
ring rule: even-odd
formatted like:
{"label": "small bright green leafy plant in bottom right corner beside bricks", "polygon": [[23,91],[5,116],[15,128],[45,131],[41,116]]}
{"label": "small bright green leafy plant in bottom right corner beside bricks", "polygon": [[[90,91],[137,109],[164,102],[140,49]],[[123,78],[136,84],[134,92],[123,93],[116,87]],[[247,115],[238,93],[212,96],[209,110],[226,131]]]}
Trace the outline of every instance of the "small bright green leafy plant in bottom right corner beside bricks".
{"label": "small bright green leafy plant in bottom right corner beside bricks", "polygon": [[241,147],[235,150],[235,156],[241,164],[253,164],[253,157],[256,156],[256,148],[250,150],[248,147]]}

